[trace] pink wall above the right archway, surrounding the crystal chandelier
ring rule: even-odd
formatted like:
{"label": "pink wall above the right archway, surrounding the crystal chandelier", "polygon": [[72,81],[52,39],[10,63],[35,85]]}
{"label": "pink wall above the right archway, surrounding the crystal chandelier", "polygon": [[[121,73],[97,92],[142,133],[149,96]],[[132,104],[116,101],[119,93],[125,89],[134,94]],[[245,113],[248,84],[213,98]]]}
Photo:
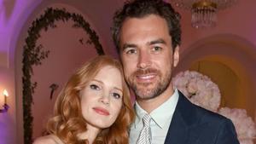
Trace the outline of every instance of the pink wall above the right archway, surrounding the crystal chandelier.
{"label": "pink wall above the right archway, surrounding the crystal chandelier", "polygon": [[229,9],[218,11],[216,27],[201,30],[190,26],[191,14],[188,10],[177,9],[182,14],[182,51],[205,37],[217,34],[233,34],[256,45],[255,5],[255,0],[241,0]]}

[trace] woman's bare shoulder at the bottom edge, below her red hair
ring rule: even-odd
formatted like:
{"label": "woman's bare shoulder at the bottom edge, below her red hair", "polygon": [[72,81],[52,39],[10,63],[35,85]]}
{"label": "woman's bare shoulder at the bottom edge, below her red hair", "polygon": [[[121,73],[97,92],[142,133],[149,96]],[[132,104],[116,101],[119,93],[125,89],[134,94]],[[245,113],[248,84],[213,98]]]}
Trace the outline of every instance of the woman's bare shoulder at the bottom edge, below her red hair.
{"label": "woman's bare shoulder at the bottom edge, below her red hair", "polygon": [[55,135],[45,135],[38,137],[33,144],[62,144],[61,140]]}

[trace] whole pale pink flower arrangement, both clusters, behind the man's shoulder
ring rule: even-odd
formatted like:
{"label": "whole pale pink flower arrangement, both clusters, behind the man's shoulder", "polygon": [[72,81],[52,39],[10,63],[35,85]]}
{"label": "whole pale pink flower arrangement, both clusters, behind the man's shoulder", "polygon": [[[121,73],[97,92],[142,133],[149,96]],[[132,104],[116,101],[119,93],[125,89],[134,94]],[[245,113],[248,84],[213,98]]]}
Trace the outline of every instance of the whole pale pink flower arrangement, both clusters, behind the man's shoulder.
{"label": "whole pale pink flower arrangement, both clusters, behind the man's shoulder", "polygon": [[210,78],[195,71],[179,72],[172,78],[172,84],[185,95],[189,101],[212,112],[230,118],[235,125],[238,140],[241,144],[253,144],[256,136],[256,125],[247,116],[244,109],[229,107],[220,108],[220,92],[218,85]]}

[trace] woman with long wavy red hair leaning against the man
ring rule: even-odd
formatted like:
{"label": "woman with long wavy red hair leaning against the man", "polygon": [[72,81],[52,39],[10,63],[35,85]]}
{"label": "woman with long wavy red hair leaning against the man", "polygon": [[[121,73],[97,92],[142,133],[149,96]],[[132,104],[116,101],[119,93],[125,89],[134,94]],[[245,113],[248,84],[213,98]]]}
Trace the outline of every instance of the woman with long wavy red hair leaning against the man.
{"label": "woman with long wavy red hair leaning against the man", "polygon": [[133,118],[122,66],[98,56],[69,79],[55,101],[49,135],[34,144],[127,144]]}

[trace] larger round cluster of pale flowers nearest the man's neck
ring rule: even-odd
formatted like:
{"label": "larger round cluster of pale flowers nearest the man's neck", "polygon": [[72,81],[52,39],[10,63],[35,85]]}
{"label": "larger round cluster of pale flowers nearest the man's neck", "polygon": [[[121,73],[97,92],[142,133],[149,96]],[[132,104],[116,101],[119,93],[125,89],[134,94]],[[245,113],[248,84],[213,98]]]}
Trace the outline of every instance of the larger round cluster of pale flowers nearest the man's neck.
{"label": "larger round cluster of pale flowers nearest the man's neck", "polygon": [[212,112],[217,112],[220,105],[220,92],[218,85],[199,72],[180,72],[172,79],[173,85],[179,89],[189,101],[204,107]]}

